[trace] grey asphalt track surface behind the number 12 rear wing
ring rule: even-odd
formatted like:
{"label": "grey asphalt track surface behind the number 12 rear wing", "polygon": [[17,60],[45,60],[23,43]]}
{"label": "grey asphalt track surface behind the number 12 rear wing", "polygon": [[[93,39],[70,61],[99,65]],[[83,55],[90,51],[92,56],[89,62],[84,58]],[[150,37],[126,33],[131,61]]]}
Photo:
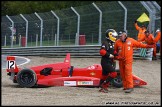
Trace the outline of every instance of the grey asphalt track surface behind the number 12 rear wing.
{"label": "grey asphalt track surface behind the number 12 rear wing", "polygon": [[[7,64],[7,55],[1,55],[1,69],[6,69],[6,64]],[[24,65],[26,63],[30,62],[30,59],[25,58],[25,57],[20,57],[20,56],[15,56],[15,61],[16,65]]]}

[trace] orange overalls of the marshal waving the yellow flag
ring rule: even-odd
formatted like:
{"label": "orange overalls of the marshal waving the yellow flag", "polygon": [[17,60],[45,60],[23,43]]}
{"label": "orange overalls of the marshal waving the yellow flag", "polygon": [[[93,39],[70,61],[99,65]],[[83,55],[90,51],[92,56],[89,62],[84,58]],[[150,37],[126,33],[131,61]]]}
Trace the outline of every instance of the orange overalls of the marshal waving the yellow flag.
{"label": "orange overalls of the marshal waving the yellow flag", "polygon": [[142,29],[141,27],[138,26],[137,23],[135,23],[134,26],[135,26],[136,30],[138,30],[137,41],[142,42],[143,38],[145,37],[146,29]]}

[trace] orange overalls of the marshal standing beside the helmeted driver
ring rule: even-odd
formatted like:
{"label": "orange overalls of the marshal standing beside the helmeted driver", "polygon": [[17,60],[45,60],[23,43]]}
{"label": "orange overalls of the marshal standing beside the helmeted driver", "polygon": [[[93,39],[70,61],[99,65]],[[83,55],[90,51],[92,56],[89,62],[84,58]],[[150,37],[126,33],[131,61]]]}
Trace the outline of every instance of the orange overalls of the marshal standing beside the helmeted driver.
{"label": "orange overalls of the marshal standing beside the helmeted driver", "polygon": [[142,44],[133,38],[127,38],[125,42],[118,39],[114,46],[114,51],[125,58],[125,60],[119,60],[120,75],[124,89],[133,88],[132,62],[134,47],[147,48],[147,44]]}

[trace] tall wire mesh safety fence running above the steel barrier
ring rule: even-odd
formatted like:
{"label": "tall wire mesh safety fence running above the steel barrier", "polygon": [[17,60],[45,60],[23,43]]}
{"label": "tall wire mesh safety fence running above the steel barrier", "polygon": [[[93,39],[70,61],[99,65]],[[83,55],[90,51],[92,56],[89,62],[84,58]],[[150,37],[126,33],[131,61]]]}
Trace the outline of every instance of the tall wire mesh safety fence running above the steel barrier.
{"label": "tall wire mesh safety fence running above the steel barrier", "polygon": [[6,15],[1,20],[1,45],[100,45],[110,28],[117,32],[126,30],[128,36],[136,39],[134,21],[144,12],[151,20],[144,24],[154,34],[161,28],[161,8],[155,1],[104,1],[44,13]]}

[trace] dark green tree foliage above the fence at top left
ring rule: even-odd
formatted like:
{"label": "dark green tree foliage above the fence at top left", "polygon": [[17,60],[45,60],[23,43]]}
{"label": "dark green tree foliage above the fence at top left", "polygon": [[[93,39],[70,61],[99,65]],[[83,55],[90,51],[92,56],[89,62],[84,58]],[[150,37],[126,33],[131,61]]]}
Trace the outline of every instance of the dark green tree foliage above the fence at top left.
{"label": "dark green tree foliage above the fence at top left", "polygon": [[93,1],[2,1],[1,16],[49,12],[91,4]]}

